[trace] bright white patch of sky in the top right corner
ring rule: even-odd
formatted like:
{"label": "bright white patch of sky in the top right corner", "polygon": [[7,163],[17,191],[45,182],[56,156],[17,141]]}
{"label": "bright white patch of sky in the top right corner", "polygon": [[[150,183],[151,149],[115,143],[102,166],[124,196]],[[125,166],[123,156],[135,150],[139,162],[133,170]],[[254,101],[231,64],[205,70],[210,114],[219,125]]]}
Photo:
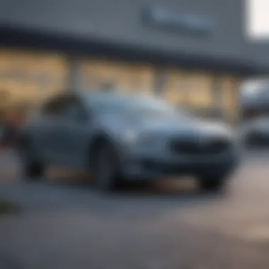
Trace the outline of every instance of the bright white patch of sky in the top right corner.
{"label": "bright white patch of sky in the top right corner", "polygon": [[254,40],[269,40],[269,0],[245,1],[248,37]]}

